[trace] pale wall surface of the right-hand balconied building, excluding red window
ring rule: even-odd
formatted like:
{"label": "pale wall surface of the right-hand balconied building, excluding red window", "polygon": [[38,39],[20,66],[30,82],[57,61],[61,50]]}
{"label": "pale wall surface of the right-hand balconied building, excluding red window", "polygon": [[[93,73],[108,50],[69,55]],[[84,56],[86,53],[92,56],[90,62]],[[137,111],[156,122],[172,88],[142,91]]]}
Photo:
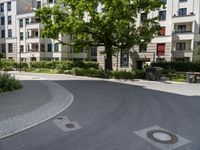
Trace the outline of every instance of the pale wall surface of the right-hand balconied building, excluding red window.
{"label": "pale wall surface of the right-hand balconied building, excluding red window", "polygon": [[[180,8],[187,8],[186,15],[180,16],[178,11]],[[164,36],[155,36],[148,44],[145,52],[139,52],[139,46],[135,46],[129,51],[129,66],[120,66],[120,55],[118,58],[118,69],[134,69],[138,68],[145,62],[156,61],[176,61],[177,59],[193,60],[193,50],[200,44],[200,1],[188,0],[179,2],[179,0],[167,0],[166,7],[160,8],[159,11],[166,10],[166,20],[159,21],[161,27],[165,27]],[[150,12],[148,18],[157,17],[159,11]],[[141,24],[141,14],[138,14],[136,25]],[[179,26],[185,25],[186,31],[180,32]],[[165,44],[165,54],[157,55],[157,44]],[[177,49],[177,43],[185,43],[185,47],[181,50]],[[103,48],[98,48],[103,52]],[[104,67],[104,57],[98,52],[97,60]],[[113,59],[113,69],[116,69],[116,59]]]}

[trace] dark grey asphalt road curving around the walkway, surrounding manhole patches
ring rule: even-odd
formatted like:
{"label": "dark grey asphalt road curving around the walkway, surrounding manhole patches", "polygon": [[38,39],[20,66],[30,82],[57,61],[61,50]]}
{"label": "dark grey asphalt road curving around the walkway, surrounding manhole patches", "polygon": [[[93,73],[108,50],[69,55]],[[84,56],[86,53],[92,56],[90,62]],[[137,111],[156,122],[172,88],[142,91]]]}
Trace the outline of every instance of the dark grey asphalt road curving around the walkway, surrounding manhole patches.
{"label": "dark grey asphalt road curving around the walkway, surrounding manhole patches", "polygon": [[59,116],[82,129],[63,132],[51,119],[0,141],[0,150],[159,150],[134,134],[160,126],[191,143],[177,150],[200,149],[200,97],[106,81],[55,81],[74,95]]}

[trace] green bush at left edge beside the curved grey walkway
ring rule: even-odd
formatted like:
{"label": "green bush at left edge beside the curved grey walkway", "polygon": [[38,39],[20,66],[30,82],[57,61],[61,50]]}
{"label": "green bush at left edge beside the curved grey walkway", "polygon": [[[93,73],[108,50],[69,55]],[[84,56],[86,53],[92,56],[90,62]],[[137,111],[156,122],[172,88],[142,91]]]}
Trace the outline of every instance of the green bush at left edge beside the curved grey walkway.
{"label": "green bush at left edge beside the curved grey walkway", "polygon": [[0,93],[21,89],[21,83],[7,73],[0,73]]}

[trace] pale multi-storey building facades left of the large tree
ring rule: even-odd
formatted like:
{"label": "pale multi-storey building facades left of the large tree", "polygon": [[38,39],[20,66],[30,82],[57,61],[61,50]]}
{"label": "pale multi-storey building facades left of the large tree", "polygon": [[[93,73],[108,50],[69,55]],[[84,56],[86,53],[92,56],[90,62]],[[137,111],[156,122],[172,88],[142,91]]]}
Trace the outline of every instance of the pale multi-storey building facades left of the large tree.
{"label": "pale multi-storey building facades left of the large tree", "polygon": [[[0,0],[0,53],[7,59],[27,62],[95,60],[95,49],[88,53],[75,53],[70,46],[40,37],[42,25],[38,23],[34,10],[55,3],[56,0]],[[70,36],[60,37],[60,40],[69,41]]]}

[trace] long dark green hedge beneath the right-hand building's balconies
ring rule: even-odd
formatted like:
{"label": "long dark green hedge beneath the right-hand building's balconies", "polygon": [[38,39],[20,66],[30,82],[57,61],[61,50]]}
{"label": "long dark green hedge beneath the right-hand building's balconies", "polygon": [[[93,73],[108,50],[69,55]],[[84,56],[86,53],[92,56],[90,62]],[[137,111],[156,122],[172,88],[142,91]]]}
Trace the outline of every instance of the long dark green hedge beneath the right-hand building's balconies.
{"label": "long dark green hedge beneath the right-hand building's balconies", "polygon": [[153,67],[162,67],[167,70],[175,70],[179,72],[200,72],[200,63],[192,62],[158,62],[152,63]]}

